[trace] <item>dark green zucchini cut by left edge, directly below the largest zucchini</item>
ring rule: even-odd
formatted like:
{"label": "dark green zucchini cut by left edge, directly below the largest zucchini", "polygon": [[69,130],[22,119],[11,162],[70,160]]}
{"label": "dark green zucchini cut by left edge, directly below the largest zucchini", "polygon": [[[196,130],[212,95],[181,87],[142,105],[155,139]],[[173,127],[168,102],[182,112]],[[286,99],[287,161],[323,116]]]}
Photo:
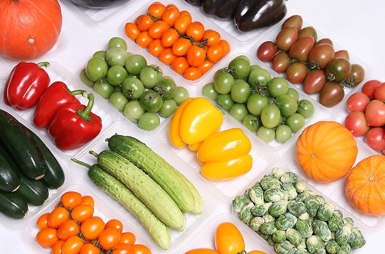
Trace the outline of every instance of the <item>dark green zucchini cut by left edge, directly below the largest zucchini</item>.
{"label": "dark green zucchini cut by left edge, directly below the largest zucchini", "polygon": [[13,192],[20,187],[20,173],[12,166],[14,163],[0,144],[0,191]]}

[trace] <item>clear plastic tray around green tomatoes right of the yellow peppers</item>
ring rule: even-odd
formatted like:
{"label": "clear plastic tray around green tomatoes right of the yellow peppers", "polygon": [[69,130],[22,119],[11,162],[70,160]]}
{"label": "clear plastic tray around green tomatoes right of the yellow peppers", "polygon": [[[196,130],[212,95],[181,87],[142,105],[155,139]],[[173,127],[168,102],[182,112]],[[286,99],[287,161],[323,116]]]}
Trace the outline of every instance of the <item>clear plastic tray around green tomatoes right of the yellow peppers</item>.
{"label": "clear plastic tray around green tomatoes right of the yellow peppers", "polygon": [[[250,56],[250,55],[247,55],[247,54],[241,54],[241,53],[237,53],[233,56],[231,56],[229,58],[229,60],[227,62],[223,62],[221,63],[220,65],[217,65],[217,66],[214,66],[215,69],[214,71],[217,71],[218,69],[221,69],[223,67],[226,67],[230,61],[232,61],[234,58],[238,57],[238,56],[246,56],[250,61],[251,61],[251,64],[257,64],[259,65],[261,68],[267,70],[272,78],[274,77],[280,77],[279,75],[277,75],[277,73],[275,71],[273,71],[271,68],[269,68],[268,66],[266,66],[263,62],[261,62],[258,58],[256,57],[253,57],[253,56]],[[199,85],[198,87],[198,93],[202,94],[202,88],[205,84],[207,83],[210,83],[210,82],[213,82],[214,78],[213,78],[213,75],[211,74],[210,76],[208,76],[207,78],[205,78],[202,83]],[[299,99],[307,99],[309,101],[312,102],[312,104],[314,105],[314,114],[313,116],[311,116],[310,118],[307,118],[305,119],[305,125],[296,133],[293,133],[293,136],[286,141],[286,143],[280,143],[277,139],[274,139],[273,141],[269,142],[268,145],[273,147],[275,150],[285,150],[289,147],[292,146],[293,142],[295,142],[298,138],[298,136],[302,133],[302,131],[306,128],[307,125],[309,125],[310,123],[314,122],[317,118],[318,118],[318,115],[319,114],[324,114],[323,111],[321,111],[321,108],[319,106],[319,103],[317,101],[315,101],[313,98],[311,98],[309,95],[306,95],[305,93],[303,93],[302,90],[298,89],[297,86],[294,86],[293,84],[291,84],[290,82],[288,82],[289,84],[289,87],[291,88],[294,88],[298,91],[299,93]],[[214,101],[211,101],[213,103],[215,103]],[[236,120],[235,118],[233,118],[232,116],[230,116],[230,114],[228,112],[226,112],[226,115],[228,115],[230,118],[232,118],[235,122],[239,123],[240,125],[242,125],[241,122],[239,122],[238,120]],[[250,130],[248,130],[247,128],[244,128],[246,130],[246,132],[249,134],[248,136],[256,136],[256,138],[258,138],[258,140],[260,140],[261,142],[264,142],[262,141],[259,137],[257,137],[257,133],[254,133]]]}

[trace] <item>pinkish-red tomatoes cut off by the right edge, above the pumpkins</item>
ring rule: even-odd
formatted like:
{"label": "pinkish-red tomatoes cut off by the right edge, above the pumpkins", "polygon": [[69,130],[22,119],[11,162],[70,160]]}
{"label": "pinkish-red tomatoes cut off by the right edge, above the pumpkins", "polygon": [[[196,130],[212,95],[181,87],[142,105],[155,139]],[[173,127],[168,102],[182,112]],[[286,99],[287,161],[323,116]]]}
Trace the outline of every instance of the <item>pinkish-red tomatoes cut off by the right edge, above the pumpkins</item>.
{"label": "pinkish-red tomatoes cut off by the right edge, above the pumpkins", "polygon": [[365,142],[377,152],[385,153],[385,82],[369,80],[360,93],[352,94],[346,103],[349,115],[344,125],[353,136],[365,135]]}

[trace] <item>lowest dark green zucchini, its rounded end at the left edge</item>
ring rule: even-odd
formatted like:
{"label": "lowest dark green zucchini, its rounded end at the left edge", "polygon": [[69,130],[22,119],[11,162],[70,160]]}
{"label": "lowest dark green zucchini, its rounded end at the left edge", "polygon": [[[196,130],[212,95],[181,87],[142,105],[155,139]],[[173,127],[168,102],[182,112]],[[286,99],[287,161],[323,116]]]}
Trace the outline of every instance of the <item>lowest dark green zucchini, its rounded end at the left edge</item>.
{"label": "lowest dark green zucchini, its rounded end at the left edge", "polygon": [[0,191],[0,212],[12,219],[23,219],[28,214],[28,205],[17,192]]}

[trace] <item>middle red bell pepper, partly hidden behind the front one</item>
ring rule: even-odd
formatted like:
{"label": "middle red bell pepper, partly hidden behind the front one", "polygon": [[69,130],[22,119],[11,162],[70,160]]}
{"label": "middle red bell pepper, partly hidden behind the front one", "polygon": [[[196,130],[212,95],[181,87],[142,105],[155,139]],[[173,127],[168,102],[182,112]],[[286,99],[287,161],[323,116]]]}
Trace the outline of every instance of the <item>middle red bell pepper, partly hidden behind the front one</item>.
{"label": "middle red bell pepper, partly hidden behind the front one", "polygon": [[87,92],[85,90],[71,92],[63,82],[53,82],[45,90],[40,101],[37,102],[33,123],[38,128],[48,129],[53,116],[61,106],[69,102],[79,102],[75,95],[87,97]]}

